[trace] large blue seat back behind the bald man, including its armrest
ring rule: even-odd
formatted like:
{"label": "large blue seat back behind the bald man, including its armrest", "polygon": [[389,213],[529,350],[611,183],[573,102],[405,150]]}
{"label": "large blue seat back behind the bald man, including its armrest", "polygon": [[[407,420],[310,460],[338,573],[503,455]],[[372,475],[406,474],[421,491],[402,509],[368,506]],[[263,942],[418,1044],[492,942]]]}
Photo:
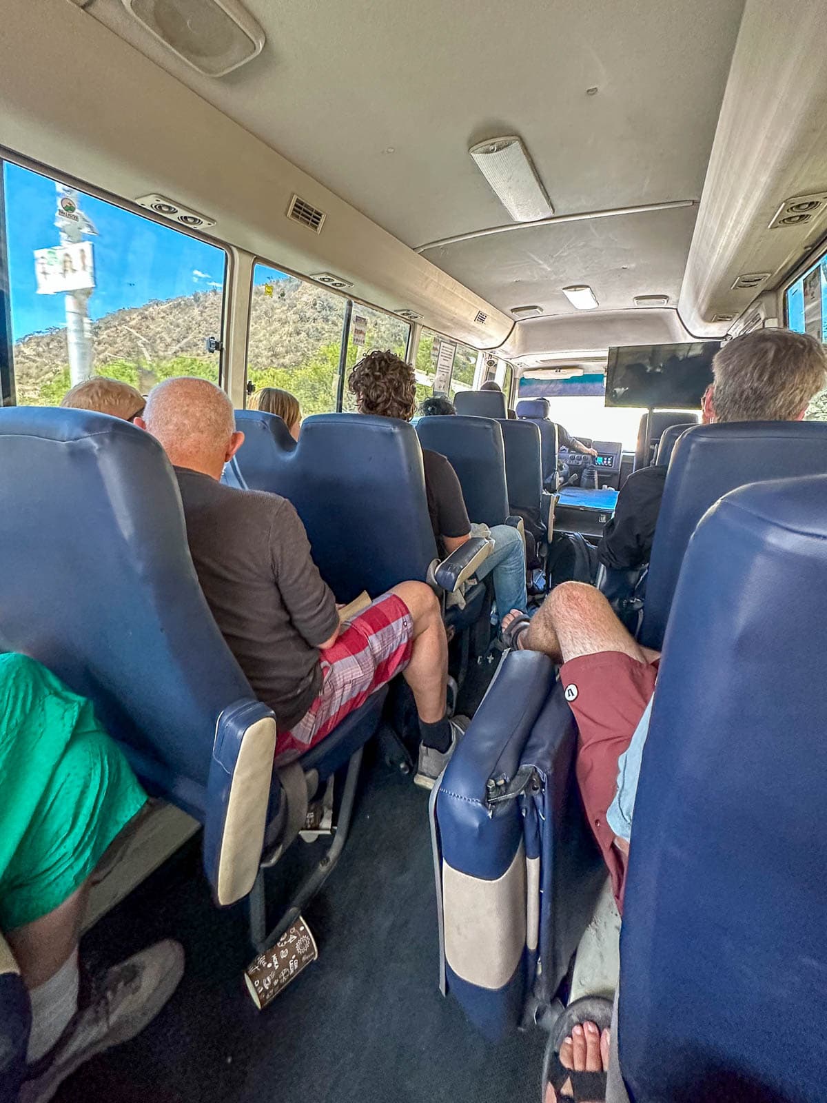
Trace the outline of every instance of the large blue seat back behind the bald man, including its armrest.
{"label": "large blue seat back behind the bald man, including its armrest", "polygon": [[[205,866],[226,901],[223,847],[243,845],[225,838],[238,831],[225,822],[235,754],[259,721],[260,746],[275,747],[275,724],[201,591],[161,446],[104,414],[9,407],[0,470],[0,634],[90,697],[150,792],[206,825]],[[251,877],[269,771],[256,784],[244,836]]]}

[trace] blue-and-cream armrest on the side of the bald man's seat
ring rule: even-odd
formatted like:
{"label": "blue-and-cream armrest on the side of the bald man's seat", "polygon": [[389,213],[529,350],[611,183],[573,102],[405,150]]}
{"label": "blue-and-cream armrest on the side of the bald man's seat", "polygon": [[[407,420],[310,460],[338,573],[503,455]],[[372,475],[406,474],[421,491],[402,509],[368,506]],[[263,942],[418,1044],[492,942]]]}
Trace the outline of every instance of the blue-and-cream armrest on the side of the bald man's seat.
{"label": "blue-and-cream armrest on the side of the bald man's seat", "polygon": [[276,753],[276,717],[253,698],[218,717],[207,779],[204,870],[216,902],[253,888],[261,860]]}

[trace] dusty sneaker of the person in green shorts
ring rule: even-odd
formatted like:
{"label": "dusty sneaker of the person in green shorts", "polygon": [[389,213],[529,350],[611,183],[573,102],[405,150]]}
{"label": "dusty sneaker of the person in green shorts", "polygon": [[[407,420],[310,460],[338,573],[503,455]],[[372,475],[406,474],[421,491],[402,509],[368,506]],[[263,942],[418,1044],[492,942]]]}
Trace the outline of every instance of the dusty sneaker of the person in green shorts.
{"label": "dusty sneaker of the person in green shorts", "polygon": [[171,939],[112,966],[45,1069],[24,1082],[19,1103],[47,1103],[84,1061],[139,1035],[173,994],[183,973],[183,947]]}

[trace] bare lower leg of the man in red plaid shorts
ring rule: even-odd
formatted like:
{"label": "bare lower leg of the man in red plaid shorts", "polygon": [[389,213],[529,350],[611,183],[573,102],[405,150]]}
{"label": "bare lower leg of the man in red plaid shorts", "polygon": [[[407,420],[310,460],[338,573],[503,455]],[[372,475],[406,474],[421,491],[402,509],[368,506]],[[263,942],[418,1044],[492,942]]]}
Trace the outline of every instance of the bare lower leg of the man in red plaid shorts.
{"label": "bare lower leg of the man in red plaid shorts", "polygon": [[390,590],[414,621],[414,652],[402,672],[417,703],[419,719],[438,724],[445,715],[448,638],[437,595],[425,582],[400,582]]}

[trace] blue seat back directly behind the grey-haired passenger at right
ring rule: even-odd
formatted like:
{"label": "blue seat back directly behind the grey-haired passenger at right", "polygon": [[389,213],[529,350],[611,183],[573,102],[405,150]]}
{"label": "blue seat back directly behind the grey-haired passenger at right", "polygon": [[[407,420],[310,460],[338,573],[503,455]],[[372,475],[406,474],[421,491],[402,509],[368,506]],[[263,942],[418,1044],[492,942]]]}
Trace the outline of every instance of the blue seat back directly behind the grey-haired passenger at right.
{"label": "blue seat back directly behind the grey-haired passenger at right", "polygon": [[827,424],[735,421],[699,425],[678,439],[666,475],[646,579],[640,640],[660,649],[689,537],[731,490],[765,479],[827,472]]}

